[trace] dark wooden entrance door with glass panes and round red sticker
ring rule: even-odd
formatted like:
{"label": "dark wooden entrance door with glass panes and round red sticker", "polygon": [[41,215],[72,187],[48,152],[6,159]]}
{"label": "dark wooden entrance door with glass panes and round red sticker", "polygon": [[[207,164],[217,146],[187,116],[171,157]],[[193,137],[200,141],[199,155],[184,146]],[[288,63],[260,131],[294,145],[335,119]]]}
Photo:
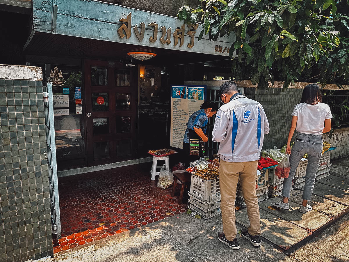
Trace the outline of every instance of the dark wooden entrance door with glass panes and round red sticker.
{"label": "dark wooden entrance door with glass panes and round red sticker", "polygon": [[110,61],[84,60],[88,166],[135,155],[135,71]]}

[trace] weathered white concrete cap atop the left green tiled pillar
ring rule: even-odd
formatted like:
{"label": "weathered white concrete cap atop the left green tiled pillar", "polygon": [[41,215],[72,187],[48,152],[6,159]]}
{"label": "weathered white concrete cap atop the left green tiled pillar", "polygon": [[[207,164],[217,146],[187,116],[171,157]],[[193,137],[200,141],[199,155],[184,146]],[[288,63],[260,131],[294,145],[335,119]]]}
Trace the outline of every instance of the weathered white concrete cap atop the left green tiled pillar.
{"label": "weathered white concrete cap atop the left green tiled pillar", "polygon": [[37,66],[1,65],[0,79],[43,80],[43,70]]}

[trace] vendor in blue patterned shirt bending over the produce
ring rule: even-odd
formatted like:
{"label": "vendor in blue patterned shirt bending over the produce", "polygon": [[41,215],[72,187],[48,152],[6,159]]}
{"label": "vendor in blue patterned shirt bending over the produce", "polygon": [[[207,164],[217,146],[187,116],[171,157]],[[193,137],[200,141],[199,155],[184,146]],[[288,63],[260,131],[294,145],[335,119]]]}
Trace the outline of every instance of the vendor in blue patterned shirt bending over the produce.
{"label": "vendor in blue patterned shirt bending over the produce", "polygon": [[198,160],[205,154],[206,127],[208,118],[217,113],[218,105],[214,102],[204,102],[200,110],[194,112],[188,120],[183,139],[183,150],[186,167],[188,163]]}

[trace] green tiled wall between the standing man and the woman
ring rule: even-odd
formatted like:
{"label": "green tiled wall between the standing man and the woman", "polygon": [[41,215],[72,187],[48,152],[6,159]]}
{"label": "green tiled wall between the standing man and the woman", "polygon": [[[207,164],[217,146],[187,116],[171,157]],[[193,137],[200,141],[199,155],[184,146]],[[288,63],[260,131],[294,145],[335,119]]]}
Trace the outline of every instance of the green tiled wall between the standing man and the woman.
{"label": "green tiled wall between the standing man and the woman", "polygon": [[303,89],[289,88],[283,93],[281,88],[245,88],[244,92],[248,98],[262,104],[268,117],[270,132],[265,136],[263,149],[274,146],[281,148],[287,142],[291,114],[302,97]]}

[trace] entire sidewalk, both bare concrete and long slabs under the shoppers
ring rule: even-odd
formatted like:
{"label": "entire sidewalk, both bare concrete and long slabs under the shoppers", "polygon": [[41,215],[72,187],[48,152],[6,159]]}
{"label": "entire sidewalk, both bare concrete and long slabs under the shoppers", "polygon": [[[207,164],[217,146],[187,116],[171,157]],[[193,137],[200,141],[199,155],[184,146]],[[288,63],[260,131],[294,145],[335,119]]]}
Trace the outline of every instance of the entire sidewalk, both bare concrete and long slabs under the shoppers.
{"label": "entire sidewalk, both bare concrete and long slabs under the shoppers", "polygon": [[[331,175],[315,182],[312,212],[297,210],[302,190],[292,191],[289,211],[269,209],[275,198],[260,202],[265,239],[260,248],[239,236],[240,250],[229,249],[217,240],[217,232],[223,230],[221,216],[205,220],[184,213],[94,241],[48,261],[349,262],[348,166],[348,159],[336,161]],[[236,217],[238,225],[248,226],[246,209],[238,210]]]}

